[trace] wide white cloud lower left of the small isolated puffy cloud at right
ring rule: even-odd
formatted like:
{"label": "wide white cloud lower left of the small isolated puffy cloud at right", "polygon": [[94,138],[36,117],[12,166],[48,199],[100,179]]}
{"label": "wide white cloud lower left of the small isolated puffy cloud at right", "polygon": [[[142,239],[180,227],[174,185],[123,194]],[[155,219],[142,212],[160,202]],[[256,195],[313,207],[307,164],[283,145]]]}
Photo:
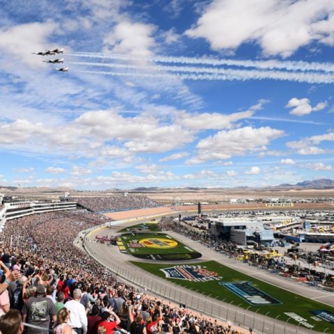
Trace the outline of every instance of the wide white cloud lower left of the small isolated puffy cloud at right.
{"label": "wide white cloud lower left of the small isolated puffy cloud at right", "polygon": [[213,136],[202,139],[196,146],[196,157],[186,161],[186,164],[198,164],[207,160],[230,159],[249,152],[267,150],[273,139],[284,136],[284,131],[271,127],[241,127],[230,131],[220,131]]}

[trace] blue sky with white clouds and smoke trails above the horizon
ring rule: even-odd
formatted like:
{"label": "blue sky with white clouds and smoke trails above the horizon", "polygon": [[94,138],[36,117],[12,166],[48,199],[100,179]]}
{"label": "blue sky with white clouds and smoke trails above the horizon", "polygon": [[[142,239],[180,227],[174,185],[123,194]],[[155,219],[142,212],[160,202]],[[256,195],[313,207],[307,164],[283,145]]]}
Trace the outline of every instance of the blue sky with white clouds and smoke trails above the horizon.
{"label": "blue sky with white clouds and smoke trails above the horizon", "polygon": [[2,2],[0,185],[334,178],[333,1]]}

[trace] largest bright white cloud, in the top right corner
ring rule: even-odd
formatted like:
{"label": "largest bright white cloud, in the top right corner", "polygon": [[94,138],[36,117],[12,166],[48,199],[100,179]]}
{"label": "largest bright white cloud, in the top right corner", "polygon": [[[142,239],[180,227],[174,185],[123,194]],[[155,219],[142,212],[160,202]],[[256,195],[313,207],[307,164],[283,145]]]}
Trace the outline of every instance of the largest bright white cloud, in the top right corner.
{"label": "largest bright white cloud, in the top right corner", "polygon": [[214,0],[186,35],[215,50],[257,42],[264,55],[287,57],[314,41],[334,44],[333,10],[331,0]]}

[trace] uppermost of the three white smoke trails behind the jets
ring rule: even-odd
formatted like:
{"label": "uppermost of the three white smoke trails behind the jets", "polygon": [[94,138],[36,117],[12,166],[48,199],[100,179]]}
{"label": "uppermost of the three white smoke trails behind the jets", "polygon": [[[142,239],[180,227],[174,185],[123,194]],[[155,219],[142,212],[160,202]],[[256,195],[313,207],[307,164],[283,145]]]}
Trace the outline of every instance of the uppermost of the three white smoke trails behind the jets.
{"label": "uppermost of the three white smoke trails behind the jets", "polygon": [[278,69],[288,71],[321,71],[334,72],[333,63],[308,63],[305,61],[235,61],[231,59],[214,59],[205,57],[175,56],[132,56],[125,54],[99,54],[93,52],[72,52],[68,56],[113,59],[120,61],[149,61],[151,63],[179,63],[184,65],[236,66],[254,67],[259,69]]}

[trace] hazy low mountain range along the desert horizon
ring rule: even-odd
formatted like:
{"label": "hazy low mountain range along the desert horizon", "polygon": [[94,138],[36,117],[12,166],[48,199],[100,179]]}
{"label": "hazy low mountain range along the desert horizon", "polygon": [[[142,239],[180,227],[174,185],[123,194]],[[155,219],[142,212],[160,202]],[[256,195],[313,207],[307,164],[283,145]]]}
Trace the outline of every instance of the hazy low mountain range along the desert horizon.
{"label": "hazy low mountain range along the desert horizon", "polygon": [[[305,189],[334,189],[334,180],[329,179],[319,179],[319,180],[312,180],[312,181],[303,181],[298,182],[296,184],[279,184],[278,186],[264,186],[262,188],[252,188],[249,186],[237,186],[235,188],[200,188],[200,187],[186,187],[186,188],[160,188],[157,186],[140,186],[138,188],[134,188],[132,190],[122,190],[122,189],[109,189],[105,192],[158,192],[158,191],[218,191],[218,190],[229,190],[229,191],[282,191],[282,190],[305,190]],[[47,192],[47,191],[71,191],[71,189],[67,188],[56,188],[51,189],[47,187],[27,187],[27,188],[18,188],[17,186],[0,186],[0,193],[5,192]],[[72,190],[73,191],[73,190]]]}

